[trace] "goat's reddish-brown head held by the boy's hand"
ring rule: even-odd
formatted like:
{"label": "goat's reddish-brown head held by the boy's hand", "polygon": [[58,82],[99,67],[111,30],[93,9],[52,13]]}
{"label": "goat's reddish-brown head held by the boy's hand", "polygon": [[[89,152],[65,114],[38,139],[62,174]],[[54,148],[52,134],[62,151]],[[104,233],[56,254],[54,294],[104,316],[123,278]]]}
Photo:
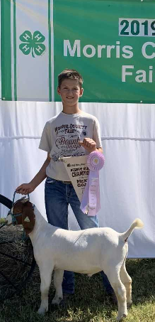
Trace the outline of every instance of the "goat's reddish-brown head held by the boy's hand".
{"label": "goat's reddish-brown head held by the boy's hand", "polygon": [[28,198],[17,200],[11,209],[11,214],[8,214],[6,218],[7,225],[11,225],[13,223],[14,215],[16,218],[15,225],[23,225],[26,235],[33,231],[33,227],[35,225],[35,213],[33,211],[33,204],[30,203]]}

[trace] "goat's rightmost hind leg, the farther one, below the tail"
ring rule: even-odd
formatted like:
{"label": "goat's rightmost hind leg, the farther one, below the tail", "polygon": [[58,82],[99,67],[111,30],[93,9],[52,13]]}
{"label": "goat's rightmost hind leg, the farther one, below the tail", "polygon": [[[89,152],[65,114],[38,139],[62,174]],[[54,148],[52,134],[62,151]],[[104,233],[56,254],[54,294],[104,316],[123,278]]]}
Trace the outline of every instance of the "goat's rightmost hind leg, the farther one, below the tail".
{"label": "goat's rightmost hind leg, the farther one, below the tail", "polygon": [[125,285],[127,294],[127,307],[129,308],[132,305],[132,279],[130,275],[127,273],[125,261],[123,262],[122,267],[120,269],[120,279],[122,283]]}

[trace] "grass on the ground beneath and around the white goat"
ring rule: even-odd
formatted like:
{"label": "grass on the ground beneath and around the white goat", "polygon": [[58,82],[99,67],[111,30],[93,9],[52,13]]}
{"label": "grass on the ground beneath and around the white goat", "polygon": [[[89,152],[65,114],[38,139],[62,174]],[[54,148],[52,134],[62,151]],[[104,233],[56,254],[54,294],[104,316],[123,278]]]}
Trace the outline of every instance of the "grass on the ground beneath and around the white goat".
{"label": "grass on the ground beneath and around the white goat", "polygon": [[[127,272],[132,277],[133,305],[126,322],[155,321],[155,259],[127,259]],[[101,274],[88,278],[75,274],[75,295],[67,308],[51,305],[53,284],[49,294],[49,312],[44,317],[36,311],[40,306],[38,267],[20,295],[6,299],[0,306],[0,322],[113,322],[117,307],[112,306],[102,286]]]}

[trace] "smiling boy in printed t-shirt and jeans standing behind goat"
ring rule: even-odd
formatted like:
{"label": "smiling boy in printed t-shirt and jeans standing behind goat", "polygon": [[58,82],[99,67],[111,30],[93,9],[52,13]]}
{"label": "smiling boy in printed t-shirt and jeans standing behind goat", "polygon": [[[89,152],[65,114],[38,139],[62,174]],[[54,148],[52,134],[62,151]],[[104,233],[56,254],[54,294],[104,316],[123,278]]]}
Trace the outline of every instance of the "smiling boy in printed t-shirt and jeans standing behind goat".
{"label": "smiling boy in printed t-shirt and jeans standing behind goat", "polygon": [[[46,178],[45,208],[51,225],[68,229],[68,205],[74,212],[81,230],[98,227],[96,216],[88,217],[80,210],[80,201],[71,184],[62,156],[81,156],[92,151],[103,153],[98,120],[79,109],[79,97],[83,95],[83,78],[76,70],[63,70],[58,76],[57,92],[62,99],[62,112],[52,117],[42,132],[39,148],[47,151],[47,159],[30,183],[16,188],[21,194],[31,193]],[[103,274],[103,284],[111,299],[115,294]],[[64,301],[74,294],[74,273],[64,272],[62,283]]]}

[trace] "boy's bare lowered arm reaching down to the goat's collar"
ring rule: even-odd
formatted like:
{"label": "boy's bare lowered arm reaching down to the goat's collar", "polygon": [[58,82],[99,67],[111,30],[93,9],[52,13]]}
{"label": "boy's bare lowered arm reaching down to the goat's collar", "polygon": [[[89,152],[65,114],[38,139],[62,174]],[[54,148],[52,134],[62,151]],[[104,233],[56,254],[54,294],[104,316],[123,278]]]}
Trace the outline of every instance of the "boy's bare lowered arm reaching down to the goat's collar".
{"label": "boy's bare lowered arm reaching down to the goat's collar", "polygon": [[27,195],[28,193],[32,193],[33,190],[46,178],[46,168],[50,163],[50,154],[47,154],[47,159],[43,163],[40,171],[36,174],[36,176],[29,183],[23,183],[21,186],[16,188],[16,193],[21,193],[22,195]]}

